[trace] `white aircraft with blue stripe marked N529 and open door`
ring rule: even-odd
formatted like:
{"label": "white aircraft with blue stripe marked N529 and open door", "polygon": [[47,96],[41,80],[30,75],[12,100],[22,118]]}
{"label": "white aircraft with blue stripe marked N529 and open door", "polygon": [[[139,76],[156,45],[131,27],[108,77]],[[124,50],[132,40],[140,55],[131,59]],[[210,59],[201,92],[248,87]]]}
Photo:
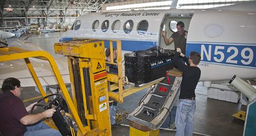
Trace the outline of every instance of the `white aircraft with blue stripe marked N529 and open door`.
{"label": "white aircraft with blue stripe marked N529 and open door", "polygon": [[[256,2],[254,4],[256,7]],[[80,39],[119,39],[122,50],[148,49],[155,46],[174,49],[174,45],[165,46],[162,30],[165,27],[168,36],[172,34],[171,21],[183,21],[188,30],[186,56],[192,50],[201,53],[199,67],[201,81],[230,80],[233,75],[245,79],[256,79],[256,11],[241,10],[141,10],[131,12],[89,13],[80,16],[70,31],[60,38],[60,42]],[[109,43],[105,42],[105,47]],[[10,65],[19,65],[10,69]],[[24,64],[23,64],[24,65]],[[29,78],[29,71],[21,71],[21,64],[0,65],[0,84],[6,77],[20,80]],[[37,64],[35,64],[37,65]],[[15,69],[14,69],[15,68]],[[37,69],[37,68],[36,68]],[[6,72],[7,70],[8,72]],[[42,84],[53,84],[53,75],[38,64],[37,75]],[[62,70],[60,68],[60,70]],[[5,72],[4,72],[5,71]],[[48,70],[49,71],[49,70]],[[68,66],[63,63],[66,83],[69,82]],[[51,77],[51,80],[48,80]],[[22,86],[32,86],[26,83]]]}

